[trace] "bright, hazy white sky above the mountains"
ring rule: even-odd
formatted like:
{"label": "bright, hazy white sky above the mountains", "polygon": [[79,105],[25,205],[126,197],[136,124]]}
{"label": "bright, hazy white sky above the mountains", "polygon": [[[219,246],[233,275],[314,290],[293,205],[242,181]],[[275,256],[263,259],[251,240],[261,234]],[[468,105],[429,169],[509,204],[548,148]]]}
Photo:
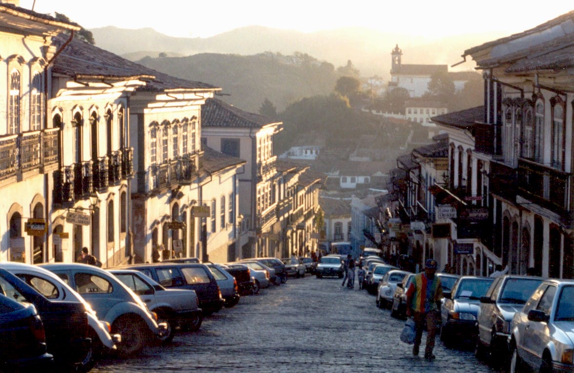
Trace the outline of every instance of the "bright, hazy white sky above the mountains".
{"label": "bright, hazy white sky above the mountains", "polygon": [[[33,3],[20,0],[27,9]],[[540,5],[508,0],[36,0],[34,10],[63,13],[87,29],[149,27],[181,37],[209,37],[259,25],[301,32],[364,26],[425,38],[482,32],[508,36],[574,10],[569,0]]]}

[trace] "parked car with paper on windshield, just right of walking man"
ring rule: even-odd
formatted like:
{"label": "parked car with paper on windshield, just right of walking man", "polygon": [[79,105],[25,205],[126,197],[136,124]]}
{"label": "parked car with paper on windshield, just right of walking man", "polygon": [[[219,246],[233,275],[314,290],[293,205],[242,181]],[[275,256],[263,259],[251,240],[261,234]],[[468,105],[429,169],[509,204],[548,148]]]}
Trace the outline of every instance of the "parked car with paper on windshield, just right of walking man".
{"label": "parked car with paper on windshield, just right of walking man", "polygon": [[462,276],[451,292],[443,293],[440,339],[445,345],[452,345],[455,340],[475,341],[480,297],[486,294],[492,281],[492,277]]}

